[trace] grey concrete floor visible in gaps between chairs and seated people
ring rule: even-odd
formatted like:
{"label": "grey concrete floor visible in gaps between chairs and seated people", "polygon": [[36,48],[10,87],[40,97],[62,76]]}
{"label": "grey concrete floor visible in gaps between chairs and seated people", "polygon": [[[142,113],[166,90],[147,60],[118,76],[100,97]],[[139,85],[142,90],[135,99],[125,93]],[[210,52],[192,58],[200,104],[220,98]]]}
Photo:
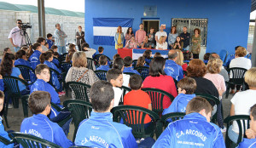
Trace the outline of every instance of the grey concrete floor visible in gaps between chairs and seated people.
{"label": "grey concrete floor visible in gaps between chairs and seated people", "polygon": [[[69,93],[69,94],[71,94],[71,93]],[[224,118],[228,117],[230,115],[230,105],[231,105],[230,99],[232,97],[233,97],[233,95],[230,94],[228,99],[224,98],[222,100],[223,109],[224,109]],[[62,96],[61,97],[61,104],[65,100],[68,100],[70,98],[71,97]],[[31,117],[31,116],[32,116],[32,113],[29,111],[29,117]],[[24,119],[24,116],[23,116],[23,111],[22,111],[22,105],[20,103],[20,108],[18,108],[18,109],[14,109],[14,108],[9,109],[9,112],[8,112],[8,122],[9,122],[9,127],[10,128],[5,128],[5,129],[6,130],[14,130],[16,132],[19,132],[20,131],[20,124],[21,124],[23,119]],[[74,131],[74,126],[73,126],[72,123],[70,124],[70,130],[69,131],[70,131],[70,133],[69,133],[67,138],[72,140],[73,139],[73,131]]]}

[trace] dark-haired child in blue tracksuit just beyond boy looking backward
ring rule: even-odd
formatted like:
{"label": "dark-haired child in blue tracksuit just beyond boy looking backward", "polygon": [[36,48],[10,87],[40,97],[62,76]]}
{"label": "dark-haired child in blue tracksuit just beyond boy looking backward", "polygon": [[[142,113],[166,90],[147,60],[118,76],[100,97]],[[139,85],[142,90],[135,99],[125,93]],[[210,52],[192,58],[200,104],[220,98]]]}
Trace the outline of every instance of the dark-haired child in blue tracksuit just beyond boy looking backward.
{"label": "dark-haired child in blue tracksuit just beyond boy looking backward", "polygon": [[[42,64],[48,65],[49,68],[52,68],[52,69],[58,71],[59,73],[61,73],[61,70],[59,70],[57,68],[57,66],[51,62],[52,60],[53,60],[53,54],[51,54],[51,52],[45,52],[40,55],[40,61]],[[58,90],[61,90],[61,84],[58,80],[58,75],[55,72],[52,72],[52,77],[50,77],[50,78],[51,78],[52,84],[55,86],[55,88],[57,88]]]}

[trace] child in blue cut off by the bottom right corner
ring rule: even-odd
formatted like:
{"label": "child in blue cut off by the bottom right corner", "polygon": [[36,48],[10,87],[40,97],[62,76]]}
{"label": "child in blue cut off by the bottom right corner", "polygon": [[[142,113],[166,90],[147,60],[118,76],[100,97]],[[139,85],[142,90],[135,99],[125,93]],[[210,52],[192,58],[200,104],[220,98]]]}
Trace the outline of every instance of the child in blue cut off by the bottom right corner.
{"label": "child in blue cut off by the bottom right corner", "polygon": [[243,139],[238,148],[256,147],[256,105],[250,109],[250,128],[246,130],[247,138]]}

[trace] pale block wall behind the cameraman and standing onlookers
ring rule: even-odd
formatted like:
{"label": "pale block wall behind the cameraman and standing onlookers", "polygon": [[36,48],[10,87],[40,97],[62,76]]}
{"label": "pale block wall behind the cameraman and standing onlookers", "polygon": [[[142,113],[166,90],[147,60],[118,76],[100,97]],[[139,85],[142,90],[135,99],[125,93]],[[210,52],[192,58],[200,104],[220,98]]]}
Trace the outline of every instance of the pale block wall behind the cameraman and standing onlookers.
{"label": "pale block wall behind the cameraman and standing onlookers", "polygon": [[[6,47],[9,47],[14,51],[11,43],[9,43],[8,36],[11,29],[16,26],[17,19],[22,20],[23,23],[31,23],[32,29],[27,29],[27,33],[31,38],[32,43],[34,43],[39,36],[38,14],[30,13],[27,11],[17,12],[0,10],[0,37],[2,37],[0,40],[0,55],[3,53],[3,48]],[[45,14],[46,34],[54,34],[56,23],[61,24],[61,30],[66,32],[67,43],[75,43],[75,32],[78,31],[78,26],[83,26],[84,30],[84,18]]]}

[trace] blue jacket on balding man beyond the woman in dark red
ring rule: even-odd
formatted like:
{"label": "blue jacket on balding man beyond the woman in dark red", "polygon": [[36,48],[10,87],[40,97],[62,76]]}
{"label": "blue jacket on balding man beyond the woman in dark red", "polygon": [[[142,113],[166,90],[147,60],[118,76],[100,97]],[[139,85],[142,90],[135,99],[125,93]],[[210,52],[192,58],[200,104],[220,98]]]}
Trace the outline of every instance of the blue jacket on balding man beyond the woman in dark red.
{"label": "blue jacket on balding man beyond the woman in dark red", "polygon": [[177,81],[183,79],[183,67],[177,65],[174,60],[166,60],[165,72],[167,76],[171,76]]}

